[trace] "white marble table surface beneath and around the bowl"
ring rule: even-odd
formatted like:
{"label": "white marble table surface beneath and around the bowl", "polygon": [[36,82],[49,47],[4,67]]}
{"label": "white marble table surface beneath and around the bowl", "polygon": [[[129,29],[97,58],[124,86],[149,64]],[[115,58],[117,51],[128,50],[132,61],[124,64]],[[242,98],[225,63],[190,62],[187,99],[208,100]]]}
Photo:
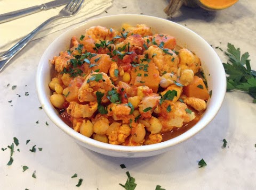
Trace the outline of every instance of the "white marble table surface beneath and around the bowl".
{"label": "white marble table surface beneath and around the bowl", "polygon": [[[164,0],[114,0],[106,12],[95,17],[145,14],[166,19],[166,5]],[[218,12],[182,7],[171,20],[201,35],[222,62],[227,57],[220,48],[226,50],[228,42],[248,51],[256,70],[255,10],[252,0],[238,1]],[[113,158],[71,140],[39,109],[35,88],[39,59],[65,30],[31,41],[0,73],[0,149],[11,145],[13,137],[20,143],[20,151],[14,145],[11,166],[6,165],[10,149],[0,150],[0,189],[124,189],[118,184],[126,182],[126,171],[135,178],[136,189],[156,189],[157,185],[164,189],[256,189],[256,105],[243,92],[227,92],[218,115],[206,128],[158,156]],[[37,151],[29,151],[34,145]],[[207,166],[199,168],[202,158]],[[29,169],[23,172],[22,166]],[[34,171],[36,178],[32,177]],[[71,178],[74,174],[77,177]],[[76,187],[80,178],[83,183]]]}

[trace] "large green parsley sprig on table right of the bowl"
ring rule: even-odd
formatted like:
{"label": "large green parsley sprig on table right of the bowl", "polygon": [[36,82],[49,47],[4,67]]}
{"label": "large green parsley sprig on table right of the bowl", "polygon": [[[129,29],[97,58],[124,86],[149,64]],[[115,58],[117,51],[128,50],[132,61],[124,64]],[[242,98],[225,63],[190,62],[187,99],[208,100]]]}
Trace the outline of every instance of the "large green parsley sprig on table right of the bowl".
{"label": "large green parsley sprig on table right of the bowl", "polygon": [[256,71],[251,69],[249,53],[241,55],[239,48],[228,43],[225,54],[230,63],[223,63],[227,76],[227,91],[241,90],[250,94],[256,103]]}

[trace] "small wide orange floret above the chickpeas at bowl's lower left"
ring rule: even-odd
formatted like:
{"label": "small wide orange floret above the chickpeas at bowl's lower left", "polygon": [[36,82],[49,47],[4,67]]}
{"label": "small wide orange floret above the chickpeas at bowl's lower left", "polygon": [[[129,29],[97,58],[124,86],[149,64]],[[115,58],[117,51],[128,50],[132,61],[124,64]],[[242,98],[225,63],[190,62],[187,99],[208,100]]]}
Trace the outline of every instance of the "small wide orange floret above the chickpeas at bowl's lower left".
{"label": "small wide orange floret above the chickpeas at bowl's lower left", "polygon": [[82,105],[75,101],[71,101],[67,108],[67,113],[75,118],[92,117],[94,112],[97,110],[97,107],[98,107],[97,102],[90,102],[89,104]]}

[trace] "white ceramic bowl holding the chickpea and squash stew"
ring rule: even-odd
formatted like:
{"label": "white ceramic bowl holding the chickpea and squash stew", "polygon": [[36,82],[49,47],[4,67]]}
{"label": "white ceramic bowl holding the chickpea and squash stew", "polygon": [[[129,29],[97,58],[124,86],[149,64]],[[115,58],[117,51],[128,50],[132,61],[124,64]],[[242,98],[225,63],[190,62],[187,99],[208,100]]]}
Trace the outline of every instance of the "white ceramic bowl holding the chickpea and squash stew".
{"label": "white ceramic bowl holding the chickpea and squash stew", "polygon": [[[208,101],[207,109],[199,122],[187,132],[174,139],[144,146],[122,146],[102,143],[71,129],[61,120],[57,111],[51,105],[51,92],[48,84],[51,81],[53,66],[49,63],[49,60],[52,59],[53,56],[59,55],[60,51],[67,50],[71,37],[81,36],[81,34],[85,33],[86,29],[94,25],[120,28],[123,23],[129,23],[131,25],[139,23],[147,24],[153,31],[170,34],[177,39],[177,45],[190,49],[201,59],[202,67],[209,85],[209,91],[212,91],[211,99]],[[39,62],[36,76],[36,88],[39,101],[52,122],[85,148],[113,157],[149,157],[169,151],[173,145],[189,139],[211,122],[218,113],[226,92],[226,75],[220,58],[202,37],[177,23],[145,15],[106,16],[84,22],[66,31],[55,39],[45,50]]]}

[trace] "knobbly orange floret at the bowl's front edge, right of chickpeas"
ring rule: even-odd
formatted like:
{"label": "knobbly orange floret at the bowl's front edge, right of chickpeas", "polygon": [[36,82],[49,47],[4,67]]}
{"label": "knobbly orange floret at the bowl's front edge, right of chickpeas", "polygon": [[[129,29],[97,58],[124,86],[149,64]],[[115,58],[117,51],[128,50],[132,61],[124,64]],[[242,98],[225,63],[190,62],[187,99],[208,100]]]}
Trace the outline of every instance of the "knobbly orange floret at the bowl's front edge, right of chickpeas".
{"label": "knobbly orange floret at the bowl's front edge, right of chickpeas", "polygon": [[127,124],[121,125],[121,123],[114,122],[109,126],[106,134],[110,144],[122,144],[131,134],[131,127]]}

